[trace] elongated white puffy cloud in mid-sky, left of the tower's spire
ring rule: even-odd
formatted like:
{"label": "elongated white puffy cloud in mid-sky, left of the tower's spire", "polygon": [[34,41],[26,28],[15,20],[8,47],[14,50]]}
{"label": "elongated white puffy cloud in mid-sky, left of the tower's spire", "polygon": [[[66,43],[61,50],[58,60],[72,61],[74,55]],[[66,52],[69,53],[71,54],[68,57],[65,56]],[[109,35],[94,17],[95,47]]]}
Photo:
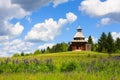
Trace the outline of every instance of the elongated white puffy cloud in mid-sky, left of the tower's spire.
{"label": "elongated white puffy cloud in mid-sky, left of the tower's spire", "polygon": [[47,19],[43,23],[35,24],[25,36],[25,40],[30,42],[54,40],[65,24],[72,23],[76,19],[77,16],[72,12],[66,14],[66,19],[60,18],[58,21],[54,21],[53,18]]}

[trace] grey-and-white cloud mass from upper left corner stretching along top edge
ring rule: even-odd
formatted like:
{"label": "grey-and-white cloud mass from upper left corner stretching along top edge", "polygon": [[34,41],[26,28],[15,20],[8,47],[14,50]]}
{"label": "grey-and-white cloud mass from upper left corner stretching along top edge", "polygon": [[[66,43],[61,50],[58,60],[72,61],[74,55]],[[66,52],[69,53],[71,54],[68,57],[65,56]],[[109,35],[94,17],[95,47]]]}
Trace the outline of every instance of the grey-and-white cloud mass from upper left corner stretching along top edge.
{"label": "grey-and-white cloud mass from upper left corner stretching along top edge", "polygon": [[[0,36],[20,35],[20,32],[24,29],[23,26],[19,22],[11,24],[10,21],[13,18],[28,16],[32,11],[51,2],[54,3],[54,6],[57,6],[68,2],[68,0],[0,0]],[[31,21],[30,18],[28,18],[28,21]],[[17,33],[13,33],[17,29],[20,30]]]}

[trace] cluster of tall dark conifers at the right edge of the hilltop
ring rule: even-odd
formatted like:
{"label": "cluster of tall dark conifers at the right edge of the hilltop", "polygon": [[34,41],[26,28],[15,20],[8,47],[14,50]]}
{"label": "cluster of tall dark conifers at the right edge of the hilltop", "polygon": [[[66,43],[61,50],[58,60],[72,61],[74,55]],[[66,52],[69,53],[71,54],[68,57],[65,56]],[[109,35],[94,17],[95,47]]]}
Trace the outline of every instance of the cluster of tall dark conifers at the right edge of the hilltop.
{"label": "cluster of tall dark conifers at the right edge of the hilltop", "polygon": [[98,40],[98,51],[111,54],[113,52],[119,52],[119,50],[120,39],[117,38],[117,40],[114,41],[110,32],[108,35],[103,32],[100,39]]}

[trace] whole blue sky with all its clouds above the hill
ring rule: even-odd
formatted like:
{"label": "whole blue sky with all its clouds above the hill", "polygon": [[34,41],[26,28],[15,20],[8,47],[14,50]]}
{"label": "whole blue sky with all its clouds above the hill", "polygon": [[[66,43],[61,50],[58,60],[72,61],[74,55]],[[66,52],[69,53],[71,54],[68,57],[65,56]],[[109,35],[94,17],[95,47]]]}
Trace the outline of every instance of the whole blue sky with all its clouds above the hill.
{"label": "whole blue sky with all its clouds above the hill", "polygon": [[1,0],[0,56],[69,42],[81,26],[97,42],[102,32],[120,37],[120,0]]}

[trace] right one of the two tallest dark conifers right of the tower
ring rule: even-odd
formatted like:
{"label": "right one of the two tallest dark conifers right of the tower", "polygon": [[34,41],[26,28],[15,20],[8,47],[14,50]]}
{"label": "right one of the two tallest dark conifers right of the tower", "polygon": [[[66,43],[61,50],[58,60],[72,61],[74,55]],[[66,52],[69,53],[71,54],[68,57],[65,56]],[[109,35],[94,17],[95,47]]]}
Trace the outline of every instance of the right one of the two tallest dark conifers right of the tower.
{"label": "right one of the two tallest dark conifers right of the tower", "polygon": [[115,51],[114,40],[112,38],[111,33],[109,32],[107,37],[107,52],[108,54],[111,54],[114,51]]}

